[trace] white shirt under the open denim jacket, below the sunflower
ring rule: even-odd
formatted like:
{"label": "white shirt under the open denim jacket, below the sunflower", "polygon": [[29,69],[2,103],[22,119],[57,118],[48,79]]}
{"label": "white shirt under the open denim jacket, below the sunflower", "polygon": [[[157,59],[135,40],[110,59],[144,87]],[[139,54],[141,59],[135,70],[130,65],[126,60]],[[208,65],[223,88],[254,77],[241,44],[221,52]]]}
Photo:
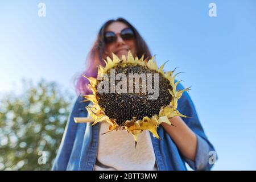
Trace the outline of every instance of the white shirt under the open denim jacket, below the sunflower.
{"label": "white shirt under the open denim jacket, below the sunflower", "polygon": [[[100,136],[95,171],[154,171],[158,170],[150,131],[138,134],[137,146],[133,135],[126,130],[110,131],[109,123],[100,123]],[[106,133],[102,135],[101,133]]]}

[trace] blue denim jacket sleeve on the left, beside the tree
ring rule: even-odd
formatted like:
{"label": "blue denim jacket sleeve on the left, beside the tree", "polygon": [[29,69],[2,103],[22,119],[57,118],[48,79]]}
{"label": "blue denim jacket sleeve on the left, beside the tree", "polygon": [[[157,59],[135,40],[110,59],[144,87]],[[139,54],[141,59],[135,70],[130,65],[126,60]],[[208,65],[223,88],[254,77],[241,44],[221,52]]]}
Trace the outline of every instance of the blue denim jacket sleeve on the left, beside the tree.
{"label": "blue denim jacket sleeve on the left, beside the tree", "polygon": [[73,104],[72,111],[69,114],[67,125],[63,134],[63,138],[60,143],[59,150],[55,161],[52,166],[53,171],[65,171],[67,170],[69,157],[72,152],[73,143],[76,137],[77,124],[74,121],[74,117],[79,115],[80,101],[82,97],[77,97],[75,104]]}

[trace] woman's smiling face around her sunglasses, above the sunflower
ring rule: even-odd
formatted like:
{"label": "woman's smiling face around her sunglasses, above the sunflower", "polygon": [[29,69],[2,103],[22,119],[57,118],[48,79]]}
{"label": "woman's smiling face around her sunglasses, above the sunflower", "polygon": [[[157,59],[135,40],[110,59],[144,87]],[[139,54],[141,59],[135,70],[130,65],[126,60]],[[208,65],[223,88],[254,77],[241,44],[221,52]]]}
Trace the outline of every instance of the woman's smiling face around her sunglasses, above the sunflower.
{"label": "woman's smiling face around her sunglasses, above the sunflower", "polygon": [[[106,31],[112,31],[115,34],[120,33],[123,28],[127,28],[128,26],[125,23],[122,22],[113,22],[109,24],[109,26],[106,28]],[[105,54],[106,56],[112,57],[112,52],[121,59],[122,55],[128,54],[128,51],[131,51],[131,53],[135,56],[137,54],[137,48],[135,43],[135,38],[131,40],[123,40],[120,36],[120,34],[117,35],[117,41],[113,43],[108,43],[105,46]]]}

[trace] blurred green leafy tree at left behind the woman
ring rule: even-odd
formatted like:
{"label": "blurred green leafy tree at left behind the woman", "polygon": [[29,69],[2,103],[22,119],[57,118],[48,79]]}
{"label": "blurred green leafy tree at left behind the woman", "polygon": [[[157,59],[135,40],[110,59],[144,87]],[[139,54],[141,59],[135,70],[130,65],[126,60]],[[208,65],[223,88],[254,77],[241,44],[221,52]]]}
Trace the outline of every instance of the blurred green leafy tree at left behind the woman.
{"label": "blurred green leafy tree at left behind the woman", "polygon": [[44,80],[36,86],[23,81],[23,87],[19,96],[1,98],[0,170],[49,170],[73,96]]}

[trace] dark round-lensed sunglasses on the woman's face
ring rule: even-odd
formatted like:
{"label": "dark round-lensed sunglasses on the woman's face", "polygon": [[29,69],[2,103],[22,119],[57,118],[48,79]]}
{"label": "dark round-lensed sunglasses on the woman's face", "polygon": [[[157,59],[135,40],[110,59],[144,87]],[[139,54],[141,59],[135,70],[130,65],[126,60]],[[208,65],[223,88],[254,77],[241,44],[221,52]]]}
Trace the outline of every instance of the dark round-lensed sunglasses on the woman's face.
{"label": "dark round-lensed sunglasses on the woman's face", "polygon": [[[131,28],[127,27],[121,30],[120,36],[123,40],[131,40],[134,38],[134,32]],[[117,41],[117,34],[111,31],[106,31],[104,33],[104,42],[105,44],[110,44]]]}

